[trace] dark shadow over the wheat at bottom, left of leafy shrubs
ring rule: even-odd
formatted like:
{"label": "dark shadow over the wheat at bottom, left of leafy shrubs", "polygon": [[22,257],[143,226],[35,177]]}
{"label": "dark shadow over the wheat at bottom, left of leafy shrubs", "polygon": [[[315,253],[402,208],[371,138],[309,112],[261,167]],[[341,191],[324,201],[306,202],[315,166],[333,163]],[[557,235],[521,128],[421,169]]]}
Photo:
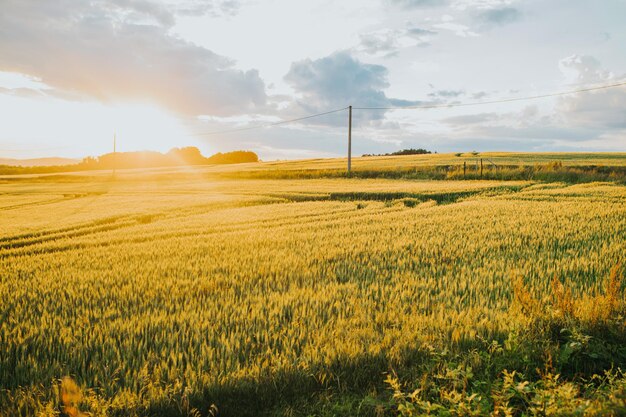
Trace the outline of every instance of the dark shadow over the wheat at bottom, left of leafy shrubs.
{"label": "dark shadow over the wheat at bottom, left of leafy shrubs", "polygon": [[[506,334],[493,338],[505,340]],[[481,342],[462,343],[468,352]],[[250,379],[238,379],[190,394],[184,401],[151,401],[146,415],[179,417],[197,410],[202,416],[258,417],[273,415],[396,415],[385,407],[390,395],[388,374],[418,380],[433,366],[432,350],[415,348],[392,360],[385,353],[335,360],[310,370],[278,371]],[[181,406],[181,404],[183,404]],[[211,411],[217,408],[217,412]],[[326,408],[321,410],[321,408]],[[322,412],[324,411],[324,412]],[[122,412],[120,415],[125,415]],[[192,414],[190,414],[192,415]]]}

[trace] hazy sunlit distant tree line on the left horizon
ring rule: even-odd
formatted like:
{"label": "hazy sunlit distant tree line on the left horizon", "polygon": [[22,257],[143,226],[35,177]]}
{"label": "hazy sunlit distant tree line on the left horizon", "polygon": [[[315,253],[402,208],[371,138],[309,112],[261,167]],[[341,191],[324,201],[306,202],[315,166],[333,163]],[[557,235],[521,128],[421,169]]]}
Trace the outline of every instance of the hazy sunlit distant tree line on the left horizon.
{"label": "hazy sunlit distant tree line on the left horizon", "polygon": [[12,174],[47,174],[70,171],[91,171],[99,169],[124,168],[155,168],[181,165],[209,165],[209,164],[239,164],[258,162],[259,157],[251,151],[234,151],[216,153],[208,158],[204,157],[196,147],[174,148],[162,154],[160,152],[115,152],[99,157],[89,156],[77,164],[54,166],[11,166],[0,165],[1,175]]}

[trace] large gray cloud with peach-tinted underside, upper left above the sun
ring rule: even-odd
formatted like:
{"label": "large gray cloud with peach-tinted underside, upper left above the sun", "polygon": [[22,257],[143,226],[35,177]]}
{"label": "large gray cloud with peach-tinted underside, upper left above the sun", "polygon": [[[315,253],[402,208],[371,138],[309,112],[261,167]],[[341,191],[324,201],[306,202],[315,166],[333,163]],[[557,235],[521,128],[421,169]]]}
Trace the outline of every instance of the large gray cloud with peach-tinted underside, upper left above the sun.
{"label": "large gray cloud with peach-tinted underside, upper left above the sun", "polygon": [[266,105],[255,70],[170,34],[171,9],[145,0],[5,0],[0,70],[102,101],[151,99],[184,114]]}

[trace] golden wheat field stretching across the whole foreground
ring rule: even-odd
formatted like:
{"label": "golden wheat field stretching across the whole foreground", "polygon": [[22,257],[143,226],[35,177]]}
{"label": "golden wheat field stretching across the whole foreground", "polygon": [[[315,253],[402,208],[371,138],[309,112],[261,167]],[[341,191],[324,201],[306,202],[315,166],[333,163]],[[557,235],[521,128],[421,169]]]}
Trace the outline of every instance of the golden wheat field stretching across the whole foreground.
{"label": "golden wheat field stretching across the whole foreground", "polygon": [[517,277],[598,290],[625,236],[614,183],[5,179],[0,415],[59,415],[65,376],[92,415],[375,391],[418,346],[509,332]]}

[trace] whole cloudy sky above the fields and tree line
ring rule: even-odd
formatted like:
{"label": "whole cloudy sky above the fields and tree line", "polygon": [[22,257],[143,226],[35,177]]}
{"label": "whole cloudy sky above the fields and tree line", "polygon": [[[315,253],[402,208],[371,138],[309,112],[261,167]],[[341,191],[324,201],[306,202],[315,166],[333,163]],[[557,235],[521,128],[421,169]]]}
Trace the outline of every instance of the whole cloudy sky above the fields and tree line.
{"label": "whole cloudy sky above the fields and tree line", "polygon": [[[626,82],[626,0],[0,0],[0,157],[343,156]],[[353,154],[626,151],[626,86]]]}

